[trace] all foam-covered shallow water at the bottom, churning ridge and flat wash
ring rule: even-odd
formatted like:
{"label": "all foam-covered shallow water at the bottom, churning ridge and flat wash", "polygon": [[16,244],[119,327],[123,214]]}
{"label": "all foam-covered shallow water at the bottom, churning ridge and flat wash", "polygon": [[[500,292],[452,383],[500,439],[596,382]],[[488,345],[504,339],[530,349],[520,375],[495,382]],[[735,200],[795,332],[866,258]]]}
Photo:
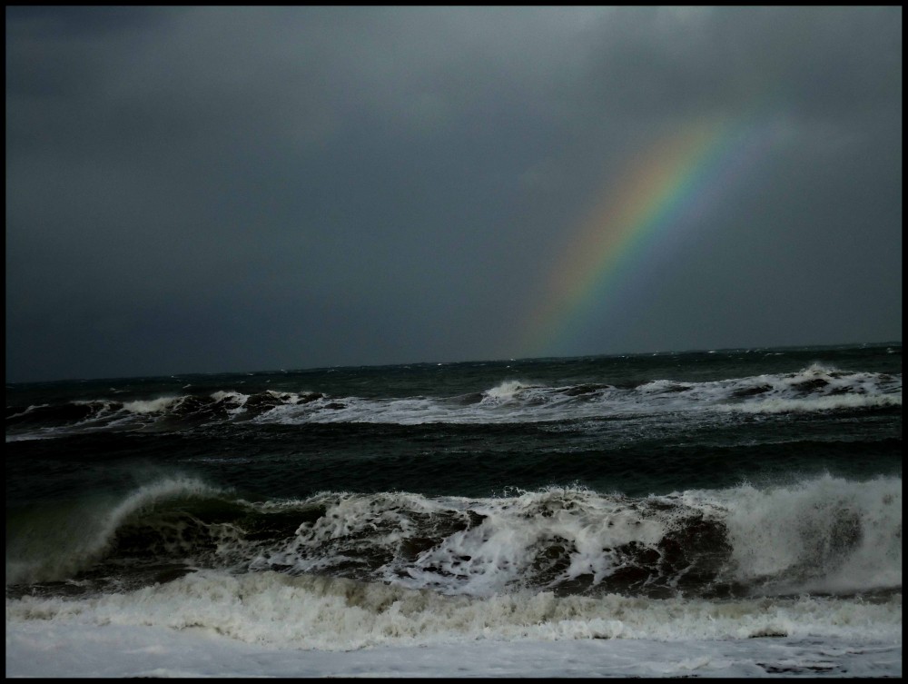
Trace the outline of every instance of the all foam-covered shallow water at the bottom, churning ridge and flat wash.
{"label": "all foam-covered shallow water at the bottom, churning ridge and flat wash", "polygon": [[[324,576],[201,571],[89,599],[7,599],[6,625],[7,676],[902,674],[900,593],[477,599]],[[54,659],[41,657],[46,643]]]}

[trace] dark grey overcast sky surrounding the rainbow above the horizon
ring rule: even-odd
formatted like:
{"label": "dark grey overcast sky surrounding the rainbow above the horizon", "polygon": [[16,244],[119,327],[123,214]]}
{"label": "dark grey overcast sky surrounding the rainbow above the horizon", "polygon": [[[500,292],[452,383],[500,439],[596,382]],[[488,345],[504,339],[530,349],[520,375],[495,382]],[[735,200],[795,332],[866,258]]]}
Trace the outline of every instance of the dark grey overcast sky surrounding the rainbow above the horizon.
{"label": "dark grey overcast sky surrounding the rainbow above the horizon", "polygon": [[6,8],[7,382],[901,339],[901,7]]}

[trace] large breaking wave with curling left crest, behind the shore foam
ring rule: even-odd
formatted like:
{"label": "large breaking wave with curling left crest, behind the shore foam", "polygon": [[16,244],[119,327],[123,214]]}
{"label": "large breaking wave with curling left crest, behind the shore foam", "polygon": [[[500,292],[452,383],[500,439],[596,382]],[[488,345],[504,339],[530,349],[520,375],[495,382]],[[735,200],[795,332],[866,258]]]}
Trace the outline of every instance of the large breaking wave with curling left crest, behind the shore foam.
{"label": "large breaking wave with curling left crest, behind the shore foam", "polygon": [[100,589],[112,577],[135,586],[202,569],[487,597],[902,586],[902,481],[893,477],[643,498],[546,488],[485,499],[322,492],[262,502],[166,479],[105,506],[25,515],[7,523],[7,591],[47,581]]}

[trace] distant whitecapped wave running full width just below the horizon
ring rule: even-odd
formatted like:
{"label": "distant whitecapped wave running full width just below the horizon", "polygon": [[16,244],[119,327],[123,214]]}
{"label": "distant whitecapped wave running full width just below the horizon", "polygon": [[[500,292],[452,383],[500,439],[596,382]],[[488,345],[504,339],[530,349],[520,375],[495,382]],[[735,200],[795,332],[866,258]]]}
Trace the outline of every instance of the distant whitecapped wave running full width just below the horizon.
{"label": "distant whitecapped wave running full width just below the horizon", "polygon": [[564,421],[654,412],[854,411],[902,406],[902,376],[840,371],[814,363],[799,372],[714,382],[655,380],[635,386],[586,382],[549,386],[508,380],[457,396],[374,399],[321,392],[221,390],[147,400],[107,398],[7,407],[6,440],[92,431],[181,431],[224,421],[500,423]]}

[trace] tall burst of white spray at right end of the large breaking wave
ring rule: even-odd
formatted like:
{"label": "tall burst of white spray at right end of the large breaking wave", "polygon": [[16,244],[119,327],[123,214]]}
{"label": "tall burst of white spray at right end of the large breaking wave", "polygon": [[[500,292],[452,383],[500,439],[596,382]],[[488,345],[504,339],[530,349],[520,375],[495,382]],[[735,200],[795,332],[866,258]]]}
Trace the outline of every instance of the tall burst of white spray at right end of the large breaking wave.
{"label": "tall burst of white spray at right end of the large breaking wave", "polygon": [[686,492],[713,503],[725,525],[736,580],[765,590],[860,591],[902,586],[902,480],[855,482],[823,475],[756,489]]}

